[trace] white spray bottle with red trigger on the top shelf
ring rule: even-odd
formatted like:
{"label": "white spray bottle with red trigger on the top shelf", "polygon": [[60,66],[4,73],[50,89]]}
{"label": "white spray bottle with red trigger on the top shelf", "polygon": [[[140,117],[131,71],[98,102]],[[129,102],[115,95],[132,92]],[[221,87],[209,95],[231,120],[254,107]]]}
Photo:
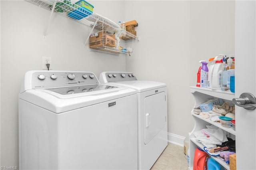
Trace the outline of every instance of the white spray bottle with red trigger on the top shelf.
{"label": "white spray bottle with red trigger on the top shelf", "polygon": [[215,61],[212,71],[212,89],[221,90],[222,59]]}

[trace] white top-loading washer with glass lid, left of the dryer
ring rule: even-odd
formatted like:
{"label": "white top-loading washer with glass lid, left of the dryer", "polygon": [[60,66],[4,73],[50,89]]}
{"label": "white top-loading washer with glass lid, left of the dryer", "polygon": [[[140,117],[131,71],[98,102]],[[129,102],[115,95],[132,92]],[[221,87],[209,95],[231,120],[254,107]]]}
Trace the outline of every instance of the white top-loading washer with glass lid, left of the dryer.
{"label": "white top-loading washer with glass lid, left of the dryer", "polygon": [[28,71],[19,94],[20,170],[137,169],[134,89],[93,73]]}

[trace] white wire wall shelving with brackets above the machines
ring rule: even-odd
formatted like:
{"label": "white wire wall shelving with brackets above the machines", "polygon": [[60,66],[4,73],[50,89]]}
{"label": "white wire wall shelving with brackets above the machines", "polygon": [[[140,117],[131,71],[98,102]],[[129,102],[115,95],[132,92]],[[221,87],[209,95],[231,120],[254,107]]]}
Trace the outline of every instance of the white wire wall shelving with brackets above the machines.
{"label": "white wire wall shelving with brackets above the machines", "polygon": [[[74,20],[76,22],[79,22],[83,25],[86,25],[92,28],[90,34],[93,32],[94,29],[100,30],[100,31],[106,31],[108,34],[114,34],[118,29],[120,29],[118,24],[109,20],[108,18],[105,18],[104,16],[100,16],[99,14],[94,14],[86,10],[80,11],[80,13],[77,15],[82,16],[85,14],[85,15],[88,15],[87,17],[82,18],[81,20],[70,18],[68,16],[68,13],[76,10],[77,8],[79,8],[79,6],[73,3],[71,4],[70,1],[68,0],[26,0],[26,1],[51,11],[48,25],[50,24],[52,14],[57,13],[61,16],[69,18],[70,20]],[[47,29],[48,29],[48,26],[44,32],[44,36],[46,36],[47,34]],[[84,45],[86,45],[86,43],[88,42],[90,34],[88,35],[88,38],[86,39]],[[132,43],[133,43],[133,40],[139,40],[138,36],[135,36],[127,31],[125,31],[124,37],[126,37],[126,40],[132,40]],[[97,47],[96,49],[91,49],[91,50],[102,52],[102,53],[110,53],[114,55],[117,55],[119,53],[126,53],[130,55],[129,51],[126,51],[123,49],[115,49],[108,46]]]}

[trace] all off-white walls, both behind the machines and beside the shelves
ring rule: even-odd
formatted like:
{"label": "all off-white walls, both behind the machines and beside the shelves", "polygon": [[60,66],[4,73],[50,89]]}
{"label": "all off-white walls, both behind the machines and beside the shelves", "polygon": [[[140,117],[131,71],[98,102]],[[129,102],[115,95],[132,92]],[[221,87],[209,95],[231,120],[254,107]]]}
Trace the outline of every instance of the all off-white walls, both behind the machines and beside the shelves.
{"label": "all off-white walls, both behind the machines and beside the shelves", "polygon": [[[88,29],[26,1],[0,1],[1,166],[18,165],[18,93],[24,73],[42,69],[42,56],[56,70],[132,71],[140,80],[168,87],[168,132],[186,136],[194,105],[199,60],[234,53],[234,1],[88,1],[94,12],[118,22],[137,20],[134,52],[106,55],[84,48]],[[124,5],[125,4],[125,5]],[[110,10],[111,9],[111,10]]]}

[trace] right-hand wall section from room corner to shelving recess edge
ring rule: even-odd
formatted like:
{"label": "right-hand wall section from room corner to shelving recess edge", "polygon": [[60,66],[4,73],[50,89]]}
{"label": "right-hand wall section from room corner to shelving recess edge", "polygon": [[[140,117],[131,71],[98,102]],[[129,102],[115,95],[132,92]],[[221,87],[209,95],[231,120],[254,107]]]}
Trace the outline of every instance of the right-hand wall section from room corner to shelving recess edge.
{"label": "right-hand wall section from room corner to shelving recess edge", "polygon": [[125,6],[126,20],[137,20],[140,36],[134,53],[126,57],[126,70],[140,80],[167,84],[168,132],[180,136],[188,132],[191,111],[189,5],[188,1],[128,1]]}

